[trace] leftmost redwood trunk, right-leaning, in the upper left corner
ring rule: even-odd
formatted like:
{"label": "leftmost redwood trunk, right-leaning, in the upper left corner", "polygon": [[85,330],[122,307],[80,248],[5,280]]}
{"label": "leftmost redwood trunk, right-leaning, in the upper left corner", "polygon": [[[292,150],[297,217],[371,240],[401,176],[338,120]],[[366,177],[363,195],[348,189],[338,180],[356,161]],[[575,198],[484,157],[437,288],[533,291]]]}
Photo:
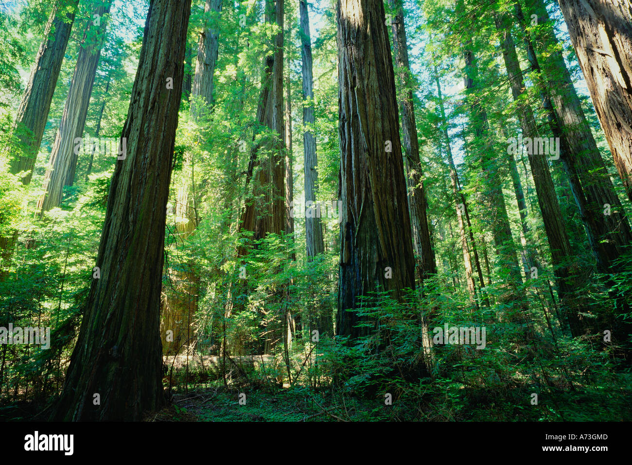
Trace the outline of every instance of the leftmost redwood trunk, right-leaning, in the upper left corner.
{"label": "leftmost redwood trunk, right-leaning, in the upper left corner", "polygon": [[[35,166],[37,152],[44,136],[52,94],[55,92],[78,3],[79,0],[58,0],[52,8],[46,30],[44,30],[44,41],[35,57],[27,90],[20,102],[13,128],[13,135],[18,139],[18,146],[11,147],[9,153],[14,157],[11,159],[9,155],[9,159],[11,159],[13,174],[28,171],[22,178],[23,184],[31,182],[33,166]],[[62,8],[66,12],[65,15]],[[10,143],[13,145],[13,142]]]}

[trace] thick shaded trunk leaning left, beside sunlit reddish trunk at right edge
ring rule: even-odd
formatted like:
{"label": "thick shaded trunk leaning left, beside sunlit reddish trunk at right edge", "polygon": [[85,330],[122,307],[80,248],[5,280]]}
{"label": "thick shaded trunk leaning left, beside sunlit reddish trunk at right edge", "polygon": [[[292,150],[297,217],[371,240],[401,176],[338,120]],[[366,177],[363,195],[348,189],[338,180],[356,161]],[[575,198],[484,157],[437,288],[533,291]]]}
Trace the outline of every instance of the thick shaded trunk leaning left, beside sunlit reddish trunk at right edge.
{"label": "thick shaded trunk leaning left, beside sunlit reddish trunk at right edge", "polygon": [[[544,22],[545,27],[538,28],[542,32],[542,37],[536,37],[538,43],[544,44],[544,47],[556,47],[557,39],[550,27],[550,18],[544,4],[540,0],[526,1],[527,6],[531,8],[530,11],[535,11],[540,18],[538,23]],[[526,29],[520,4],[516,3],[514,6],[516,17],[525,33],[527,56],[532,71],[535,71],[535,82],[542,96],[551,131],[560,140],[562,166],[568,175],[597,266],[604,274],[617,273],[621,271],[621,265],[616,260],[632,241],[632,232],[623,206],[605,169],[564,58],[557,51],[547,52],[545,64],[540,68],[540,61],[533,46],[531,33]],[[544,75],[542,78],[546,82],[540,78],[541,74]],[[610,215],[604,214],[606,204],[611,207]],[[610,279],[606,281],[608,286],[614,284]],[[617,302],[619,312],[629,312],[628,296],[611,296]],[[602,332],[604,327],[614,327],[616,330],[612,332],[612,342],[626,347],[626,356],[628,360],[632,359],[632,349],[629,349],[628,342],[632,325],[620,316],[612,319],[607,315],[600,315],[598,320],[599,322],[591,325],[593,331]]]}

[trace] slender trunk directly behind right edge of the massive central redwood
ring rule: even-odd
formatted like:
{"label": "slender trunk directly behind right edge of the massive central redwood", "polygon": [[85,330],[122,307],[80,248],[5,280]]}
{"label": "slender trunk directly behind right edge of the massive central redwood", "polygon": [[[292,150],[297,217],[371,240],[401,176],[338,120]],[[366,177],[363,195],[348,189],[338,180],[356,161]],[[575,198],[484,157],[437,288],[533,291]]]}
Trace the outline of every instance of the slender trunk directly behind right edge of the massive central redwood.
{"label": "slender trunk directly behind right edge of the massive central redwood", "polygon": [[415,106],[413,103],[413,80],[408,61],[408,46],[406,44],[406,28],[404,27],[404,10],[402,0],[389,0],[389,5],[396,11],[392,21],[393,47],[395,49],[397,66],[401,70],[399,76],[403,85],[401,99],[401,138],[408,174],[408,206],[413,225],[413,246],[417,258],[416,275],[420,284],[428,277],[437,274],[434,250],[428,229],[425,189],[423,187],[423,170],[419,158],[419,142],[417,140],[417,125],[415,122]]}

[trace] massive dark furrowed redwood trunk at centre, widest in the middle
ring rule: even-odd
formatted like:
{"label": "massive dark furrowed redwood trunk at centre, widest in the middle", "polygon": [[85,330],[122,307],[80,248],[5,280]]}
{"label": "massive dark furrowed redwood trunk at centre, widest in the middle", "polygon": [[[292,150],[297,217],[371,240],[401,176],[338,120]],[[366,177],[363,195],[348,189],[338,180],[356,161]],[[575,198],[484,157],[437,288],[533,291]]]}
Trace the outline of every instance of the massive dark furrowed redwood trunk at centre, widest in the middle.
{"label": "massive dark furrowed redwood trunk at centre, widest in the middle", "polygon": [[[339,0],[338,196],[342,201],[337,333],[368,334],[360,296],[415,289],[406,176],[389,36],[380,0]],[[390,277],[389,277],[390,276]]]}

